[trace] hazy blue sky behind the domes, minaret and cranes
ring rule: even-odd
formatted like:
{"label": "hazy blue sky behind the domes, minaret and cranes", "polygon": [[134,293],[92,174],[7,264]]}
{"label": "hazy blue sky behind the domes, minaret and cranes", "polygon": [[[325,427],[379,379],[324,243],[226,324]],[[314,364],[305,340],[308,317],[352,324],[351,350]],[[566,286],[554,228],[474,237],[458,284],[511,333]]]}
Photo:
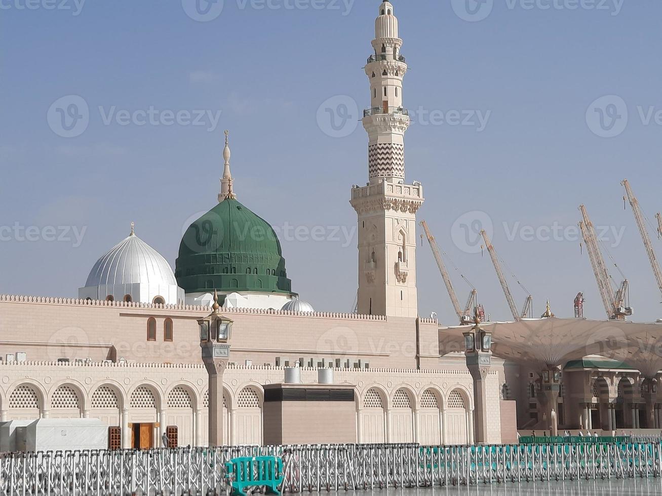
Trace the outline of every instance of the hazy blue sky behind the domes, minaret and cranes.
{"label": "hazy blue sky behind the domes, minaret and cranes", "polygon": [[[75,296],[132,221],[174,265],[187,220],[214,204],[222,130],[229,128],[240,201],[274,226],[300,228],[299,239],[283,240],[294,289],[319,310],[352,310],[356,240],[344,242],[334,226],[354,229],[348,198],[352,184],[367,181],[367,136],[360,124],[348,136],[328,136],[318,109],[339,95],[358,108],[369,105],[362,67],[377,0],[225,0],[207,22],[191,19],[195,5],[188,0],[68,0],[62,6],[70,10],[32,1],[36,8],[0,1],[0,226],[38,228],[36,241],[0,231],[0,292]],[[575,294],[583,291],[586,315],[604,318],[589,260],[572,233],[528,240],[522,229],[572,229],[583,202],[594,224],[625,228],[610,253],[630,280],[636,319],[662,317],[620,186],[630,179],[652,224],[662,210],[662,119],[654,113],[662,110],[662,4],[468,1],[464,11],[464,1],[394,2],[410,65],[404,102],[419,121],[406,135],[408,180],[426,188],[419,218],[477,286],[493,318],[510,315],[487,253],[466,253],[476,246],[462,241],[459,224],[475,218],[467,212],[489,216],[499,255],[533,293],[537,315],[546,298],[557,315],[572,315]],[[218,13],[218,5],[209,7],[208,16]],[[489,15],[462,19],[474,8]],[[89,125],[74,138],[52,129],[66,134],[58,129],[63,116],[51,107],[68,95],[89,106]],[[589,108],[605,95],[622,100]],[[166,121],[161,112],[168,110],[221,113],[215,128],[209,117],[206,126],[140,126],[131,119],[122,125],[120,111],[150,108]],[[489,112],[489,120],[481,131],[451,125],[445,119],[453,122],[453,110]],[[617,136],[597,136],[610,133]],[[54,235],[47,226],[86,230],[77,243],[73,231]],[[314,226],[322,226],[316,240]],[[651,228],[662,253],[655,234]],[[469,286],[451,272],[463,302]],[[620,280],[616,270],[612,275]],[[511,286],[521,306],[526,294],[512,279]],[[455,323],[427,243],[418,251],[418,288],[422,315],[434,310]]]}

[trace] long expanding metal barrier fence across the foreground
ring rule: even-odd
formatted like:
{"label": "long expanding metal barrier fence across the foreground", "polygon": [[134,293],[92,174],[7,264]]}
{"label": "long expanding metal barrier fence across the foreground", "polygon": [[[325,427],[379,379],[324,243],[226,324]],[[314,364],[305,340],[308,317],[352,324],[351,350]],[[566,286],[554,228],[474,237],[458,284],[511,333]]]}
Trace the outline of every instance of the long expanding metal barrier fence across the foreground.
{"label": "long expanding metal barrier fence across the foreground", "polygon": [[662,477],[662,444],[324,444],[0,456],[6,495],[182,495],[225,491],[224,462],[283,458],[283,491]]}

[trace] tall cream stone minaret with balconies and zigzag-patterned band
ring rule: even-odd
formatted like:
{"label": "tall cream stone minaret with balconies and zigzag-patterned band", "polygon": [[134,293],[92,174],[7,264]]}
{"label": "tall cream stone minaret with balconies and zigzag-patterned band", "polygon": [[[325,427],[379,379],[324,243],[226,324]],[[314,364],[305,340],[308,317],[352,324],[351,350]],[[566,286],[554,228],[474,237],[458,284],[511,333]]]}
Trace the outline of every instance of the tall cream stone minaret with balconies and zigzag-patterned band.
{"label": "tall cream stone minaret with balconies and zigzag-patterned band", "polygon": [[400,54],[398,19],[383,1],[375,21],[374,54],[365,65],[371,108],[363,111],[369,138],[365,186],[352,188],[359,219],[358,313],[417,317],[416,211],[423,188],[404,181],[404,133],[409,115],[402,106],[407,71]]}

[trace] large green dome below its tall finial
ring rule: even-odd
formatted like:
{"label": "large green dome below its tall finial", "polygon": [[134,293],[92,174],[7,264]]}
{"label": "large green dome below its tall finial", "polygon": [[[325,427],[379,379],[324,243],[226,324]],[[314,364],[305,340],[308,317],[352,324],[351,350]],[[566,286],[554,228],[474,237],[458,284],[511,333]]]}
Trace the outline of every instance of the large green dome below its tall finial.
{"label": "large green dome below its tall finial", "polygon": [[257,291],[291,294],[285,259],[273,228],[227,198],[184,233],[175,264],[187,293]]}

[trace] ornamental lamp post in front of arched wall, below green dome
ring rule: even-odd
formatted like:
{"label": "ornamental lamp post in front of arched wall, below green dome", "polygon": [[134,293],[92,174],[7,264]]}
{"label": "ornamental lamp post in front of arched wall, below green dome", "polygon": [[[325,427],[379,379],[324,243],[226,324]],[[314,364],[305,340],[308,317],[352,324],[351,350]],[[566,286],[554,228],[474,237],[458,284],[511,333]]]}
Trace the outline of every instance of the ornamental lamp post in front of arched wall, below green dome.
{"label": "ornamental lamp post in front of arched wall, below green dome", "polygon": [[198,321],[203,362],[209,374],[209,446],[223,446],[223,372],[230,359],[232,320],[220,314],[214,291],[213,311]]}

